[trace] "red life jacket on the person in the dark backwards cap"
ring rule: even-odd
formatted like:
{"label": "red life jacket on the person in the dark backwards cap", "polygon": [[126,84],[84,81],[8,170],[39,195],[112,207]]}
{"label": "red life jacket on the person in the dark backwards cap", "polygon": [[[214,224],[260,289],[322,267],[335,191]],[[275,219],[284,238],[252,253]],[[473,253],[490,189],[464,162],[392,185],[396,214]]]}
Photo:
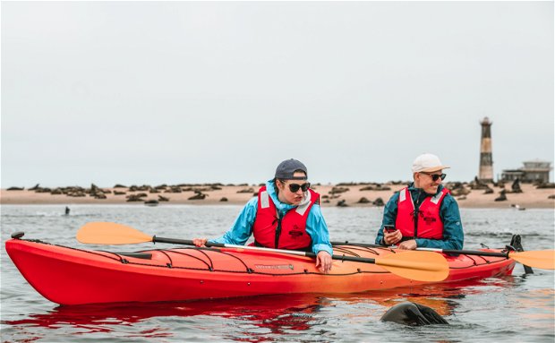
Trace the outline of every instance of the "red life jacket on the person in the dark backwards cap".
{"label": "red life jacket on the person in the dark backwards cap", "polygon": [[[256,244],[274,249],[312,248],[312,238],[306,233],[306,219],[315,203],[320,203],[320,194],[309,188],[303,202],[296,209],[288,210],[280,223],[276,205],[266,186],[260,187],[256,219],[252,226]],[[280,229],[278,224],[281,224]]]}

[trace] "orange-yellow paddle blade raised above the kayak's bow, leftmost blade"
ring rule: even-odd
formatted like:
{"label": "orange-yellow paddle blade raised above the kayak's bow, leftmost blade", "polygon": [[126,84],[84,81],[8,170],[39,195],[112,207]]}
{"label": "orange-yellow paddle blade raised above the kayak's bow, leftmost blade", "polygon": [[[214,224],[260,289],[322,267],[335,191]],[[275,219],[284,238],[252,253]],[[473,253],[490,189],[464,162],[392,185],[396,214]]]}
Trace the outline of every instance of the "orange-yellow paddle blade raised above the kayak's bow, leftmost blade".
{"label": "orange-yellow paddle blade raised above the kayak's bow, leftmost blade", "polygon": [[94,221],[77,231],[77,240],[84,244],[137,244],[152,242],[152,236],[122,224]]}

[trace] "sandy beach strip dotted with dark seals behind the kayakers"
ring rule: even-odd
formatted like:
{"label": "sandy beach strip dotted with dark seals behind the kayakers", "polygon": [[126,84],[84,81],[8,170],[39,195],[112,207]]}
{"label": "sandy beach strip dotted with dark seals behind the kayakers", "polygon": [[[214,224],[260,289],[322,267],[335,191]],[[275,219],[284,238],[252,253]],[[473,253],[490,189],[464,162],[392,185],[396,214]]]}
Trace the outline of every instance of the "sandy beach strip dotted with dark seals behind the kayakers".
{"label": "sandy beach strip dotted with dark seals behind the kayakers", "polygon": [[[321,205],[329,206],[383,206],[389,197],[405,184],[313,184],[312,189],[320,193]],[[468,184],[447,184],[461,208],[517,208],[554,209],[555,188],[536,188],[533,184],[521,184],[522,193],[510,193],[510,184],[505,201],[495,201],[503,188],[489,184],[492,193],[482,189],[471,189]],[[449,187],[449,186],[452,186]],[[137,204],[144,206],[165,204],[244,204],[254,196],[257,184],[180,184],[158,186],[118,186],[113,188],[60,187],[23,190],[2,189],[1,204]],[[551,196],[551,198],[550,198]],[[197,198],[197,199],[191,199]],[[133,201],[134,200],[134,201]],[[380,201],[381,200],[381,201]]]}

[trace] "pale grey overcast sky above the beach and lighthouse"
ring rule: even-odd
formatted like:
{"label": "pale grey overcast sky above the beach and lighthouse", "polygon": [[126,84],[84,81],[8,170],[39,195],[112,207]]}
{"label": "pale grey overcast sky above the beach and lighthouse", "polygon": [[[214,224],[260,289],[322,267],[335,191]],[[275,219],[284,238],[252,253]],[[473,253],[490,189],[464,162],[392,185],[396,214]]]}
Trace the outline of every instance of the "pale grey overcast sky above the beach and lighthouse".
{"label": "pale grey overcast sky above the beach and lighthouse", "polygon": [[[2,187],[554,159],[553,2],[2,2]],[[553,172],[551,171],[551,180]]]}

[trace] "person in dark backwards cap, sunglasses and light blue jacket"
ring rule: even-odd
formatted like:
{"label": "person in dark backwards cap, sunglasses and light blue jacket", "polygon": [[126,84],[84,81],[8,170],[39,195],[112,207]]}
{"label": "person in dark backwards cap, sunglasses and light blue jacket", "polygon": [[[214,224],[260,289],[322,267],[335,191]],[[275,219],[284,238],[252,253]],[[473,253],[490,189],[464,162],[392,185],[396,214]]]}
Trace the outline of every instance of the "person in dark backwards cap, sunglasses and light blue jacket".
{"label": "person in dark backwards cap, sunglasses and light blue jacket", "polygon": [[[333,254],[328,225],[320,210],[320,194],[312,191],[307,180],[302,162],[281,162],[275,177],[247,202],[226,234],[209,242],[243,245],[252,235],[251,245],[316,253],[316,267],[328,273]],[[195,238],[192,242],[203,246],[208,239]]]}

